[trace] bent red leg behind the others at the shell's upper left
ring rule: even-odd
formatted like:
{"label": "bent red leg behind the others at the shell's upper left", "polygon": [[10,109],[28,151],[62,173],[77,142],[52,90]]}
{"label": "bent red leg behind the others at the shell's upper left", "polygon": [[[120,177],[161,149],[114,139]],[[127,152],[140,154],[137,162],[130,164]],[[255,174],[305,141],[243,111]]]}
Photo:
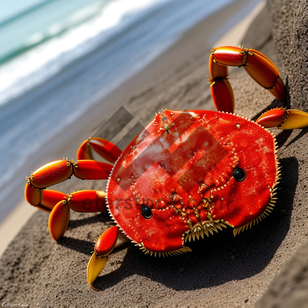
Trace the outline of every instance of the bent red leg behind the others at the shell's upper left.
{"label": "bent red leg behind the others at the shell's upper left", "polygon": [[80,145],[77,151],[77,159],[93,159],[92,150],[112,164],[122,154],[122,151],[112,142],[100,137],[90,137]]}

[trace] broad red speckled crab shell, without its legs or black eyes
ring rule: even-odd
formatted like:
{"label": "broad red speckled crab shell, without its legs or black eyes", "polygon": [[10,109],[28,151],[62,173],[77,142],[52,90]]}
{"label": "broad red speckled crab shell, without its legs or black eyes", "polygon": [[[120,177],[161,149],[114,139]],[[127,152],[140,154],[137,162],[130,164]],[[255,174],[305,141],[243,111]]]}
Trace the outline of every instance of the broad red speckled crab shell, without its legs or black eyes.
{"label": "broad red speckled crab shell, without its legs or black eyes", "polygon": [[[129,238],[155,252],[183,247],[190,222],[241,227],[270,202],[274,142],[273,134],[237,115],[159,113],[115,163],[107,187],[111,216]],[[244,181],[234,179],[235,168],[246,172]],[[152,218],[143,217],[144,205]]]}

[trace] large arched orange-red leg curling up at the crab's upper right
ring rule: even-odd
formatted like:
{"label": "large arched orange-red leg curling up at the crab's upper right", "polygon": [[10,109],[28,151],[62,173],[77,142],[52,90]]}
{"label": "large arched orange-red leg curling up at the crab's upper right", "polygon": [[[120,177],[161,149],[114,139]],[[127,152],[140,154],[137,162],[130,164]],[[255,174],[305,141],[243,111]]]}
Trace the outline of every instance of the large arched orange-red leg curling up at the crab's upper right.
{"label": "large arched orange-red leg curling up at the crab's upper right", "polygon": [[[279,77],[280,73],[277,67],[259,51],[233,46],[218,47],[211,53],[209,63],[210,74],[213,78],[210,80],[212,83],[211,92],[218,111],[230,112],[228,110],[231,109],[232,100],[226,98],[233,97],[229,82],[225,82],[227,71],[220,68],[219,64],[243,66],[256,83],[268,89],[277,98],[283,101],[286,99],[284,84]],[[216,86],[217,89],[215,90],[215,84],[221,79],[224,80],[225,85],[221,84],[220,88]],[[215,82],[214,84],[213,81]],[[223,105],[225,106],[223,107]]]}

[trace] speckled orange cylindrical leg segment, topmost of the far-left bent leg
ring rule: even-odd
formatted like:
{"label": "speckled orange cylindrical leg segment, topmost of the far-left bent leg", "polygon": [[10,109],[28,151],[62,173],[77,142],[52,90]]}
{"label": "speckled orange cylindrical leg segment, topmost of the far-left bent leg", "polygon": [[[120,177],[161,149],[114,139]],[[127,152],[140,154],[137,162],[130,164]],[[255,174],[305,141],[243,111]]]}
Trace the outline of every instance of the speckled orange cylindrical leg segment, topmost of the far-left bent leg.
{"label": "speckled orange cylindrical leg segment, topmost of the far-left bent leg", "polygon": [[72,162],[70,160],[58,160],[34,171],[30,178],[30,183],[36,188],[46,188],[58,184],[73,175]]}

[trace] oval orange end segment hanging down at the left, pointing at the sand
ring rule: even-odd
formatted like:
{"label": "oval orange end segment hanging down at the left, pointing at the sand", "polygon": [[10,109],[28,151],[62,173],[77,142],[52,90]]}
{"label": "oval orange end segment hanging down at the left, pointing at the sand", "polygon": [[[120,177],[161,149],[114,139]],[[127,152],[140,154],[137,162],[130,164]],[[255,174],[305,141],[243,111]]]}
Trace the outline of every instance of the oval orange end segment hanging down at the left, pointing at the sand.
{"label": "oval orange end segment hanging down at the left, pointing at the sand", "polygon": [[55,241],[58,241],[63,236],[69,220],[70,208],[67,201],[58,202],[52,209],[48,219],[49,233]]}

